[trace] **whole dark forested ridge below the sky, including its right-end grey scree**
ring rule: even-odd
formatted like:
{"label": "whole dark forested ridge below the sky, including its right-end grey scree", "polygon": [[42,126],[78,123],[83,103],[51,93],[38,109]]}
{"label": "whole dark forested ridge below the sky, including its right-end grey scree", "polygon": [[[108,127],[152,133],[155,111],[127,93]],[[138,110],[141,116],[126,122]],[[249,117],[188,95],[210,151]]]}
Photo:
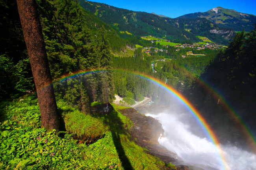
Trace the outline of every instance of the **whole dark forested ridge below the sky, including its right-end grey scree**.
{"label": "whole dark forested ridge below the sky, including its right-end grey scree", "polygon": [[[112,25],[113,28],[119,31],[128,31],[137,36],[152,35],[165,37],[177,43],[193,43],[199,42],[196,36],[200,35],[208,37],[215,43],[227,45],[234,35],[234,31],[231,29],[220,28],[204,18],[190,19],[190,24],[187,25],[188,23],[179,24],[183,20],[177,22],[177,19],[130,11],[97,2],[81,0],[80,5],[98,16],[103,22]],[[186,21],[184,20],[184,22]],[[182,27],[182,24],[185,24],[185,27]],[[187,28],[192,31],[186,31]]]}

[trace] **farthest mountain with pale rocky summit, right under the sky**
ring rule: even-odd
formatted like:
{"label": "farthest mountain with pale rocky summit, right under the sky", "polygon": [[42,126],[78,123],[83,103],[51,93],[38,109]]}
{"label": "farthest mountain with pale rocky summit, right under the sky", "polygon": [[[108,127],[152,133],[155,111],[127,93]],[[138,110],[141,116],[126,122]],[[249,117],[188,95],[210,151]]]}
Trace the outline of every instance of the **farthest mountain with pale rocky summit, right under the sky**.
{"label": "farthest mountain with pale rocky summit, right under the sky", "polygon": [[256,16],[252,14],[239,13],[232,9],[216,7],[207,12],[191,13],[179,16],[178,18],[206,18],[209,21],[224,28],[232,28],[235,31],[251,31],[254,29]]}

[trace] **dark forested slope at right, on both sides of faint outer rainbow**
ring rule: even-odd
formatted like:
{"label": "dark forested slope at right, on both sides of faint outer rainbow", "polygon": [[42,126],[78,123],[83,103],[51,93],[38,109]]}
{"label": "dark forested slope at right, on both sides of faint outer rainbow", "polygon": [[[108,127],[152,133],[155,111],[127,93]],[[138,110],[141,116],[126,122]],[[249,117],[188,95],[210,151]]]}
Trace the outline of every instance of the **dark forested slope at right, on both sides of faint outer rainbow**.
{"label": "dark forested slope at right, on both sides of faint outer rainbow", "polygon": [[[248,129],[255,129],[255,72],[256,72],[256,29],[250,33],[237,33],[230,42],[226,50],[220,51],[216,58],[208,65],[207,70],[200,76],[200,79],[221,94],[220,102],[218,98],[212,98],[208,89],[201,88],[195,83],[186,94],[191,98],[194,105],[198,105],[201,112],[204,112],[209,122],[226,121],[223,123],[223,129],[233,128],[233,122],[230,123],[226,118],[226,102],[232,106],[232,109],[241,118],[247,122]],[[221,98],[226,102],[222,102]],[[224,106],[223,106],[224,105]],[[211,116],[212,113],[215,116]],[[250,121],[247,121],[250,120]],[[215,125],[213,125],[214,127]],[[215,126],[216,127],[216,126]],[[216,127],[218,129],[219,127]],[[222,134],[223,129],[217,130],[218,135],[225,138]],[[234,137],[229,136],[230,139]],[[237,140],[236,137],[233,138]]]}

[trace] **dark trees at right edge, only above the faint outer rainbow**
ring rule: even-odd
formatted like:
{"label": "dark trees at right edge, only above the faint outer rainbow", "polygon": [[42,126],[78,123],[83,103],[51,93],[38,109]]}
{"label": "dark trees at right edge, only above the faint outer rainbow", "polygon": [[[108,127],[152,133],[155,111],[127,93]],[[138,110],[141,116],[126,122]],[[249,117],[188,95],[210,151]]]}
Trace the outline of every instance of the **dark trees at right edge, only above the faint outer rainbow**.
{"label": "dark trees at right edge, only above the faint outer rainbow", "polygon": [[[239,103],[235,105],[241,106],[248,103],[249,106],[244,107],[247,109],[251,108],[249,103],[255,101],[255,98],[251,96],[255,91],[255,32],[256,27],[250,33],[244,31],[237,33],[228,48],[219,53],[204,74],[207,80],[212,78],[209,81],[214,86],[225,89],[225,96],[229,96],[228,98],[232,99],[234,103]],[[216,78],[217,76],[218,78]]]}

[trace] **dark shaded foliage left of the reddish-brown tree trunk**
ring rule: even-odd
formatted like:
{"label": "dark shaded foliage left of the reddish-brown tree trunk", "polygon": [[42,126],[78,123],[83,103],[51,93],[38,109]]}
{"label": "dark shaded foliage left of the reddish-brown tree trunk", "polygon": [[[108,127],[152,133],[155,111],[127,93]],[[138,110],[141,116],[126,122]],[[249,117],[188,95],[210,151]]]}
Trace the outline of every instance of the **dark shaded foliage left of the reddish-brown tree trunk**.
{"label": "dark shaded foliage left of the reddish-brown tree trunk", "polygon": [[32,91],[33,78],[16,1],[0,3],[0,101]]}

